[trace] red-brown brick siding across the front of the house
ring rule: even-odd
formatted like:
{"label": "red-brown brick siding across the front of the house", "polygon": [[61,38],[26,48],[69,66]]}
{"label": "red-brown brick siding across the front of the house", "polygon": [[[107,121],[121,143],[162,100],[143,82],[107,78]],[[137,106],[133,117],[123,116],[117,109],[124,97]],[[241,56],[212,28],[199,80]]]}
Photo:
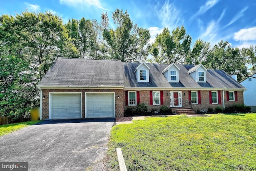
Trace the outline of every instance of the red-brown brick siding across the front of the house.
{"label": "red-brown brick siding across the front of the house", "polygon": [[[156,108],[159,110],[161,105],[150,105],[150,90],[139,90],[140,91],[140,103],[145,103],[148,106],[148,111]],[[170,107],[170,91],[163,90],[163,100],[164,106]],[[182,107],[188,105],[188,90],[174,90],[182,91]],[[197,104],[196,108],[198,110],[207,110],[209,107],[216,108],[220,106],[223,108],[223,94],[221,90],[221,104],[210,104],[209,102],[209,90],[200,90],[201,91],[201,104]],[[128,106],[125,105],[125,90],[122,89],[42,89],[42,96],[45,96],[45,99],[42,99],[42,119],[49,118],[49,92],[82,92],[82,118],[85,118],[85,92],[115,92],[115,109],[116,117],[124,116],[124,109]],[[168,95],[167,95],[168,93]],[[186,95],[184,95],[184,93]],[[238,101],[227,101],[226,91],[224,91],[224,100],[225,107],[232,106],[233,104],[243,104],[243,91],[237,91]],[[119,98],[118,98],[119,95]],[[134,106],[136,108],[136,106]]]}

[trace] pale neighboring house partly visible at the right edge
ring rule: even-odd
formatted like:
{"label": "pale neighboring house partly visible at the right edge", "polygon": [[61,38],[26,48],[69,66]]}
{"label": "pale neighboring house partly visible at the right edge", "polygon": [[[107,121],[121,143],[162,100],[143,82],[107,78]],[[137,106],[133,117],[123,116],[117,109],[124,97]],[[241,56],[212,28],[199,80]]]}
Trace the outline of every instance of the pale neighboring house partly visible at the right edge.
{"label": "pale neighboring house partly visible at the right edge", "polygon": [[240,83],[246,88],[244,92],[244,104],[251,107],[251,111],[256,112],[256,74],[248,77]]}

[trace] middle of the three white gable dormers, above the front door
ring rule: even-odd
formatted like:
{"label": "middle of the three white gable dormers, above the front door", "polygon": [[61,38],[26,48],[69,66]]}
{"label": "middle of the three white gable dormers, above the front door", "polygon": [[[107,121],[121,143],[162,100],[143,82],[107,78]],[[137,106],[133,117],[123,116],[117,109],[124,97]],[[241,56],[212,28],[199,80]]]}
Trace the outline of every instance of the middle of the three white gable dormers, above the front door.
{"label": "middle of the three white gable dormers, above the front door", "polygon": [[164,74],[169,83],[178,83],[180,82],[179,71],[180,68],[175,63],[172,63],[162,71],[162,74]]}

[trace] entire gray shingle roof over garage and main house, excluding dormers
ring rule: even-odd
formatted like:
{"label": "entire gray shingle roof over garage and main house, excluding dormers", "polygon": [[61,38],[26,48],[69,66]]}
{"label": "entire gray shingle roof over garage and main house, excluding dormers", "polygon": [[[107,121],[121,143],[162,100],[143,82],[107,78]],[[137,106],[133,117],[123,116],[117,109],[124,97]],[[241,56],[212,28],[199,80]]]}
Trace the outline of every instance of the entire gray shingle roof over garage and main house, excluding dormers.
{"label": "entire gray shingle roof over garage and main house, excluding dormers", "polygon": [[244,88],[223,70],[207,70],[207,83],[196,83],[188,71],[196,65],[177,65],[179,83],[168,83],[162,71],[168,64],[147,64],[149,83],[137,83],[134,73],[140,63],[120,60],[58,58],[38,86],[120,86],[125,88]]}

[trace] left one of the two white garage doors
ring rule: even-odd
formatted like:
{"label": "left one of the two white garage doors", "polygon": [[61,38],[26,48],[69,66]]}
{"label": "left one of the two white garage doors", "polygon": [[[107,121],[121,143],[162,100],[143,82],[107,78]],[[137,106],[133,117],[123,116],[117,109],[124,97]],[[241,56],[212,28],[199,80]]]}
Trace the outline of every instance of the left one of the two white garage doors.
{"label": "left one of the two white garage doors", "polygon": [[52,94],[52,119],[81,118],[81,94]]}

